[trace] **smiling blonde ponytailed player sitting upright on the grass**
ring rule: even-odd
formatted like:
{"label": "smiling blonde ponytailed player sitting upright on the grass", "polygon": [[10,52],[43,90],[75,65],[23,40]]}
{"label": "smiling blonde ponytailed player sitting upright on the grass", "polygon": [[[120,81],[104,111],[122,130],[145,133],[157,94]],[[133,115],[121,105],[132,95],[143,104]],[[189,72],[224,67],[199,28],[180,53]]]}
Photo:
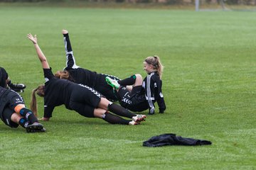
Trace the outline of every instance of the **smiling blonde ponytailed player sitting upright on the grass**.
{"label": "smiling blonde ponytailed player sitting upright on the grass", "polygon": [[[154,114],[154,103],[157,101],[159,113],[164,113],[166,105],[161,91],[163,68],[158,56],[146,57],[144,70],[148,75],[144,80],[142,75],[134,74],[119,81],[106,77],[106,81],[118,91],[119,103],[124,108],[130,111],[145,111],[149,108],[149,114]],[[127,85],[133,85],[132,91],[125,87]]]}

